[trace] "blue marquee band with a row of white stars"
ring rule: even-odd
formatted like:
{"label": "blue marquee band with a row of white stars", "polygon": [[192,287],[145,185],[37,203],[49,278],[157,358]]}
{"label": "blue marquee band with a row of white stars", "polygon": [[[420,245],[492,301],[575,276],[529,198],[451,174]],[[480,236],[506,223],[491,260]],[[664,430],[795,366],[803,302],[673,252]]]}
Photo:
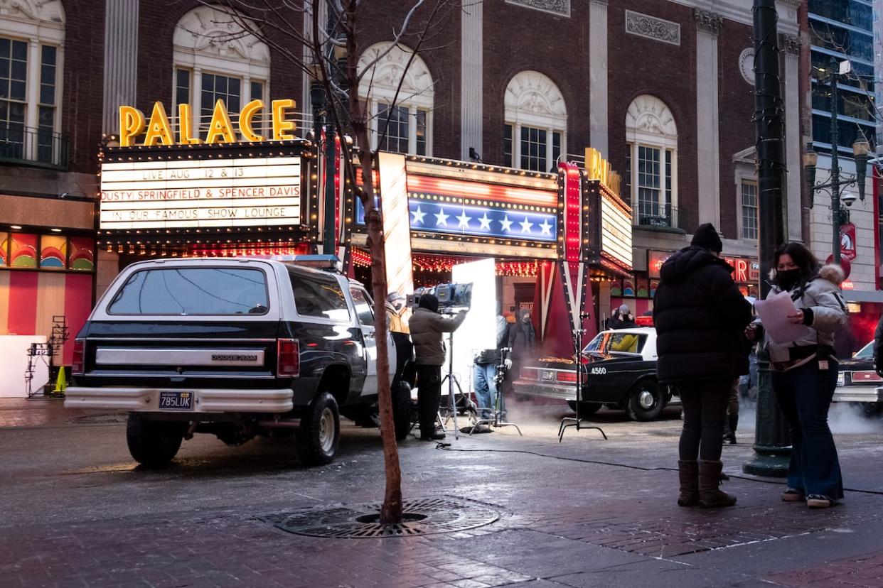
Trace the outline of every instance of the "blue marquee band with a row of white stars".
{"label": "blue marquee band with a row of white stars", "polygon": [[[365,212],[356,202],[356,223],[365,224]],[[424,233],[474,235],[497,239],[555,242],[557,217],[494,205],[459,205],[409,198],[411,230]]]}

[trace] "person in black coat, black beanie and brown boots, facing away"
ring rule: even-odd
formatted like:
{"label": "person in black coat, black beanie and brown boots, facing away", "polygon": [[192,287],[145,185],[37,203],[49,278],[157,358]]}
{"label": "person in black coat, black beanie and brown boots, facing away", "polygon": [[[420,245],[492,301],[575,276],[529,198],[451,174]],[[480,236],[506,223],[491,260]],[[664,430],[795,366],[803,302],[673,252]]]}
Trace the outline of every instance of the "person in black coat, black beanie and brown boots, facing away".
{"label": "person in black coat, black beanie and brown boots, facing away", "polygon": [[681,396],[680,506],[731,506],[719,488],[723,422],[733,380],[748,371],[743,331],[751,322],[745,301],[721,259],[721,237],[700,225],[690,247],[662,264],[653,297],[656,373]]}

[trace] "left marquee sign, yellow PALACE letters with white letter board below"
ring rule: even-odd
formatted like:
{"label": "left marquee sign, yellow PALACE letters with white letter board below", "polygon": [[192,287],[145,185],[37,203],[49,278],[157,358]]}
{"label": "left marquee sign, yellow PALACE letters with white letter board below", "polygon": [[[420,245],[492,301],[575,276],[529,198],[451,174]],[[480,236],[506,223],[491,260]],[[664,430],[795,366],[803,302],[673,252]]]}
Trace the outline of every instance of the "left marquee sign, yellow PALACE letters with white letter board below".
{"label": "left marquee sign, yellow PALACE letters with white letter board below", "polygon": [[[293,123],[283,121],[283,107],[291,104],[293,100],[274,101],[274,136],[280,140],[290,138],[287,131]],[[251,128],[251,117],[260,108],[263,103],[253,100],[239,115],[240,132],[254,140],[244,143],[236,140],[230,115],[218,100],[212,123],[202,135],[207,145],[200,145],[202,138],[190,136],[187,108],[181,108],[176,141],[159,102],[149,124],[135,108],[121,107],[121,145],[115,157],[102,163],[100,228],[301,224],[303,158],[296,153],[270,153],[273,144]],[[219,144],[224,143],[233,149],[222,153],[219,149],[224,145]]]}

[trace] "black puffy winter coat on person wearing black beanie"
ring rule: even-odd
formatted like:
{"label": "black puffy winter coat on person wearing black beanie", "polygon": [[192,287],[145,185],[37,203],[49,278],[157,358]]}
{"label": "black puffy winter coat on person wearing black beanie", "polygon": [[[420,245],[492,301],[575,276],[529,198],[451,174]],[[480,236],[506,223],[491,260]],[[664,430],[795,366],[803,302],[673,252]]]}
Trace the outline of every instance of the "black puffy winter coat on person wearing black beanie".
{"label": "black puffy winter coat on person wearing black beanie", "polygon": [[662,264],[653,297],[661,383],[748,373],[743,332],[751,322],[751,303],[736,287],[732,271],[700,247],[681,249]]}

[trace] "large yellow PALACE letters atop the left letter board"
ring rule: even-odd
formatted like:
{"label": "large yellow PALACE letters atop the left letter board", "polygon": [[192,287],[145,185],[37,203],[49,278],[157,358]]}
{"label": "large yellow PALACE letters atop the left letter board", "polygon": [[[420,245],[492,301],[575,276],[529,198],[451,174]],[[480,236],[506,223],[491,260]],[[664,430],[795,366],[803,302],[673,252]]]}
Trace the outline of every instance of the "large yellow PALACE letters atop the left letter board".
{"label": "large yellow PALACE letters atop the left letter board", "polygon": [[[296,125],[288,120],[286,111],[295,107],[295,101],[291,99],[273,100],[270,103],[270,116],[273,123],[273,137],[265,138],[254,130],[254,119],[266,109],[263,100],[252,100],[239,111],[238,127],[234,129],[230,114],[224,106],[223,100],[215,102],[212,111],[212,120],[206,129],[205,143],[237,143],[239,141],[235,130],[239,131],[245,142],[254,143],[259,141],[284,141],[295,139],[291,134]],[[192,128],[192,109],[189,104],[177,105],[177,133],[173,132],[166,115],[162,102],[155,102],[150,120],[147,121],[138,108],[132,106],[119,107],[119,145],[131,147],[133,145],[197,145],[203,143],[200,138],[201,129]],[[136,143],[143,135],[140,143]]]}

